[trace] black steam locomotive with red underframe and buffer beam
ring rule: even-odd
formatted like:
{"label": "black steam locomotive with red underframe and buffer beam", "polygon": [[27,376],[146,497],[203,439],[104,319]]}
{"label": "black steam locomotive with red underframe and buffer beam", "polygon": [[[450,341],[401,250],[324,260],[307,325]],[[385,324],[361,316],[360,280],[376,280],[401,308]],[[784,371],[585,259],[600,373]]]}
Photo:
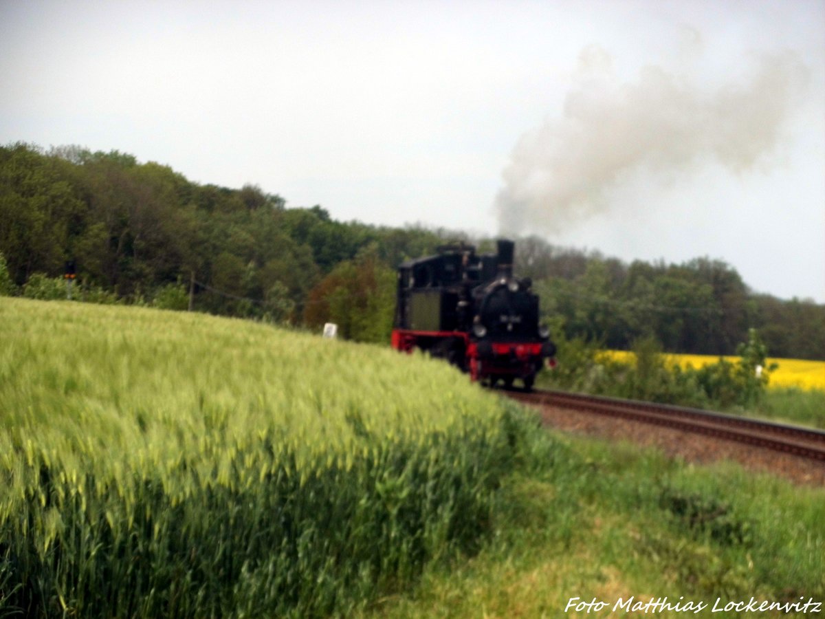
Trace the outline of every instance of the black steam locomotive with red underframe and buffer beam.
{"label": "black steam locomotive with red underframe and buffer beam", "polygon": [[476,254],[464,243],[438,248],[438,255],[398,267],[398,298],[392,345],[441,357],[472,380],[526,390],[556,347],[539,324],[539,297],[529,277],[513,276],[509,240],[496,254]]}

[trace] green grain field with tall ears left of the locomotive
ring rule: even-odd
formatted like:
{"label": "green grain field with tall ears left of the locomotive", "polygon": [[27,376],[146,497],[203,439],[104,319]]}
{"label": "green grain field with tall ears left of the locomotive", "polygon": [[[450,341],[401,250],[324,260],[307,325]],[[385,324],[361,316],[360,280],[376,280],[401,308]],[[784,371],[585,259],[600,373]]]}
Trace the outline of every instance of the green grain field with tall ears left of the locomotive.
{"label": "green grain field with tall ears left of the locomotive", "polygon": [[314,616],[473,550],[506,411],[441,364],[0,298],[0,615]]}

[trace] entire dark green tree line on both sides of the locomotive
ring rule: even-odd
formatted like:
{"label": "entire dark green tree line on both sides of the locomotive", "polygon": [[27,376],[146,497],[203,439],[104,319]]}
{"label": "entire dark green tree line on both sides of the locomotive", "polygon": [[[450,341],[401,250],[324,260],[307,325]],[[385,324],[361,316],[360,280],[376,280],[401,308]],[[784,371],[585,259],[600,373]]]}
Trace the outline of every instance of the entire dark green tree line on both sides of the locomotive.
{"label": "entire dark green tree line on both sides of the locomotive", "polygon": [[[386,342],[395,267],[446,240],[493,248],[445,229],[340,222],[320,206],[287,208],[256,185],[201,185],[116,150],[0,147],[0,253],[12,294],[65,295],[55,278],[74,261],[80,299],[309,328],[332,321],[343,337]],[[825,305],[754,294],[717,260],[628,265],[528,237],[516,240],[516,271],[532,278],[545,319],[566,338],[627,349],[653,337],[667,351],[731,354],[757,328],[773,356],[825,359]]]}

